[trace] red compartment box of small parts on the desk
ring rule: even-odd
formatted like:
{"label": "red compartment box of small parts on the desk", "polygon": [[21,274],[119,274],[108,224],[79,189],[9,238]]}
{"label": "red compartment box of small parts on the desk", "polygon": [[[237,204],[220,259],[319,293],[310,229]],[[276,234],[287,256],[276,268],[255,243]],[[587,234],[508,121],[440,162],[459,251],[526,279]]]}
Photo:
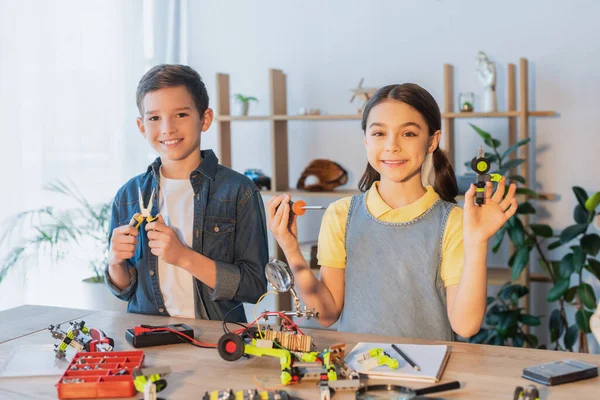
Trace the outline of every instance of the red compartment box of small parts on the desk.
{"label": "red compartment box of small parts on the desk", "polygon": [[[56,384],[59,399],[131,397],[136,394],[132,372],[141,368],[144,352],[79,352]],[[75,369],[76,368],[76,369]],[[119,372],[125,372],[119,375]]]}

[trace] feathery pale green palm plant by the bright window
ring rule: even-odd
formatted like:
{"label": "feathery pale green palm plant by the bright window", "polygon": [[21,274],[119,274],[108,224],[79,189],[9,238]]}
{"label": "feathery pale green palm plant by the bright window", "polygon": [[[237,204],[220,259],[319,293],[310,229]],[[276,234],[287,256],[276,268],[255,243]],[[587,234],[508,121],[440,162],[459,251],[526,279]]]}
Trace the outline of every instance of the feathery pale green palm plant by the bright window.
{"label": "feathery pale green palm plant by the bright window", "polygon": [[[0,283],[9,270],[30,257],[49,256],[54,262],[63,259],[73,246],[89,254],[87,261],[94,276],[86,281],[103,282],[106,247],[110,223],[110,203],[90,204],[73,185],[57,181],[45,190],[75,200],[77,207],[44,207],[28,210],[3,223],[0,249],[8,248],[0,262]],[[14,237],[17,235],[18,237]],[[91,251],[90,251],[91,248]]]}

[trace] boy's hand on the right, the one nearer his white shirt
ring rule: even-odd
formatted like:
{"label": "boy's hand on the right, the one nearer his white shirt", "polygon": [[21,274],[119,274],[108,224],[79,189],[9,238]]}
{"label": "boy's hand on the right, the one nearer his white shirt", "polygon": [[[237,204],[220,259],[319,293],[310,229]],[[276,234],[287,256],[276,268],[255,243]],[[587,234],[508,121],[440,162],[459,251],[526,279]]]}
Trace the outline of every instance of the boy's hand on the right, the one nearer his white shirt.
{"label": "boy's hand on the right, the one nearer his white shirt", "polygon": [[166,263],[181,267],[182,256],[188,247],[181,243],[173,229],[165,225],[162,215],[158,214],[157,217],[158,220],[146,224],[150,251]]}

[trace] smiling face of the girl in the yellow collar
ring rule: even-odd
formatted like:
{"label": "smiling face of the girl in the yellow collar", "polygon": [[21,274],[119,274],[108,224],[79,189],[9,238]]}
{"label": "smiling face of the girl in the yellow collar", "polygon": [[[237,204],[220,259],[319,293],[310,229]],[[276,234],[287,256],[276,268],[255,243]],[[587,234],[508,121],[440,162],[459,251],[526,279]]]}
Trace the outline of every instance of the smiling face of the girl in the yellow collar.
{"label": "smiling face of the girl in the yellow collar", "polygon": [[423,116],[406,103],[384,100],[369,112],[367,159],[382,181],[420,181],[425,156],[437,148],[439,140],[440,131],[430,136]]}

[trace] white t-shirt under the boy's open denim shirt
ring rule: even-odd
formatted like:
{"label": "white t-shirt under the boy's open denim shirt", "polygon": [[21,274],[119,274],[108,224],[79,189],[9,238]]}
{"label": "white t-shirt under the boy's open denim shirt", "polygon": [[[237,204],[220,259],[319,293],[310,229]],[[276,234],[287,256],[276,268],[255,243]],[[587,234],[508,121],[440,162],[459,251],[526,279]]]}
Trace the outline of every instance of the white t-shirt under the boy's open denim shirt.
{"label": "white t-shirt under the boy's open denim shirt", "polygon": [[[160,173],[160,214],[179,240],[192,247],[194,189],[189,179],[169,179]],[[185,269],[158,258],[158,280],[165,307],[172,317],[195,318],[194,278]]]}

